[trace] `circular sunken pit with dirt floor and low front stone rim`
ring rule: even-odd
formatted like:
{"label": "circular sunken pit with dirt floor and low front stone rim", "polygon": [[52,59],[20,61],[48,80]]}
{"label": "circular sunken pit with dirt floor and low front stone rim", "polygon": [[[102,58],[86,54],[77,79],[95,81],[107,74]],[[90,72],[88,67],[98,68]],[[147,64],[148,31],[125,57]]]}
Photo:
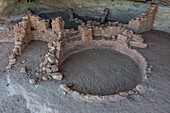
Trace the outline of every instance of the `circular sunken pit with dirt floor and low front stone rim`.
{"label": "circular sunken pit with dirt floor and low front stone rim", "polygon": [[111,47],[72,51],[60,64],[61,90],[86,101],[115,101],[135,93],[142,71],[136,60]]}

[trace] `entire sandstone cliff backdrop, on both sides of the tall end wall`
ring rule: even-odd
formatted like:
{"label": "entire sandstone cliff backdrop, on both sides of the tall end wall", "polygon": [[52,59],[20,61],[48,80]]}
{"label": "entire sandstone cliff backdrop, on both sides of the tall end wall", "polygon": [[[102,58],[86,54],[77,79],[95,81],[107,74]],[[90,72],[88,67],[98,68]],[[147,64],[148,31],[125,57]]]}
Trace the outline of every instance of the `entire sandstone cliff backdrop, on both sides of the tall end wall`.
{"label": "entire sandstone cliff backdrop, on both sides of the tall end wall", "polygon": [[[73,8],[79,16],[100,18],[103,10],[110,9],[109,20],[128,23],[131,19],[139,17],[141,13],[147,12],[150,4],[133,2],[134,0],[0,0],[0,19],[3,16],[15,16],[25,13],[27,8],[35,11],[47,12],[56,10],[66,10]],[[157,9],[154,29],[170,31],[169,26],[169,3],[170,0],[152,0],[163,5]],[[150,1],[151,2],[151,1]],[[166,6],[166,7],[165,7]]]}

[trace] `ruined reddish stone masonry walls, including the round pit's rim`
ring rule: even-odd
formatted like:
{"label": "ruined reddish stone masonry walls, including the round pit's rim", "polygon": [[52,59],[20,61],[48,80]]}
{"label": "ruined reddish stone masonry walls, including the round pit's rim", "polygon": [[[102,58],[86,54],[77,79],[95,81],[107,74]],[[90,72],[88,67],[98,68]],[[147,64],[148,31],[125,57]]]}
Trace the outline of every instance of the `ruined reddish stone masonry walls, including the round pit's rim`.
{"label": "ruined reddish stone masonry walls, including the round pit's rim", "polygon": [[[109,13],[108,8],[104,10],[100,22],[93,20],[83,22],[83,20],[75,17],[73,9],[69,9],[70,21],[80,24],[77,30],[65,29],[65,21],[62,17],[54,18],[50,22],[28,10],[27,15],[22,17],[22,21],[16,24],[12,30],[7,29],[0,34],[6,40],[13,40],[15,42],[7,69],[15,65],[17,56],[22,54],[32,40],[42,40],[48,42],[49,50],[39,67],[39,73],[42,73],[43,76],[40,78],[28,77],[32,84],[52,79],[62,80],[63,75],[59,71],[60,65],[69,56],[69,53],[74,51],[74,48],[81,45],[88,48],[93,46],[111,47],[118,52],[130,56],[140,66],[142,79],[145,80],[147,79],[148,70],[147,61],[137,50],[131,49],[131,47],[147,47],[142,36],[136,33],[149,31],[153,28],[156,8],[156,5],[151,5],[147,13],[142,13],[140,17],[130,20],[127,24],[119,21],[106,22]],[[100,39],[96,40],[97,37],[100,37]],[[79,50],[83,49],[83,47],[80,47]],[[21,73],[26,74],[26,69],[23,68]],[[130,91],[100,96],[83,94],[72,90],[66,84],[60,85],[64,95],[71,95],[90,102],[123,99],[128,95],[134,94],[135,90],[139,87],[141,86],[137,85],[136,88]]]}

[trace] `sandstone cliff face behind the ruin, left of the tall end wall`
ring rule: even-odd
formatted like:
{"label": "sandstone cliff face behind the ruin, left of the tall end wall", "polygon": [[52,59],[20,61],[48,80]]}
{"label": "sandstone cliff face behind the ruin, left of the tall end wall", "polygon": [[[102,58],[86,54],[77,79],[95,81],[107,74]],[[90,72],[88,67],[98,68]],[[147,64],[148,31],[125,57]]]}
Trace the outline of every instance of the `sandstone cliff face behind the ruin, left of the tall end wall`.
{"label": "sandstone cliff face behind the ruin, left of the tall end wall", "polygon": [[56,11],[73,8],[74,12],[80,16],[100,18],[103,10],[110,9],[108,19],[128,22],[132,18],[147,12],[149,4],[131,2],[127,0],[1,0],[0,15],[9,16],[25,12],[31,8],[39,11]]}

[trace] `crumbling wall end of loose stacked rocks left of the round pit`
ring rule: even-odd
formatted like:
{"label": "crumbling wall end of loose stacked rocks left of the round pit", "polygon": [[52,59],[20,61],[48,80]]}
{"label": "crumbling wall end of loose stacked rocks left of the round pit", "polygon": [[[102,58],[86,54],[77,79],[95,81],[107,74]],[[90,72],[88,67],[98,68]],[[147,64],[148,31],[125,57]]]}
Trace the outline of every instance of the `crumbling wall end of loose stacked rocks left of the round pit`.
{"label": "crumbling wall end of loose stacked rocks left of the round pit", "polygon": [[45,54],[44,62],[40,64],[40,72],[46,74],[42,77],[43,80],[62,80],[63,75],[58,72],[58,62],[60,54],[60,42],[48,43],[48,52]]}

